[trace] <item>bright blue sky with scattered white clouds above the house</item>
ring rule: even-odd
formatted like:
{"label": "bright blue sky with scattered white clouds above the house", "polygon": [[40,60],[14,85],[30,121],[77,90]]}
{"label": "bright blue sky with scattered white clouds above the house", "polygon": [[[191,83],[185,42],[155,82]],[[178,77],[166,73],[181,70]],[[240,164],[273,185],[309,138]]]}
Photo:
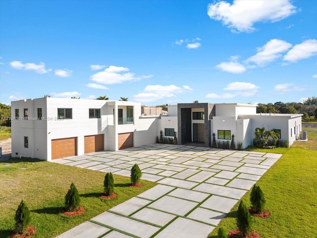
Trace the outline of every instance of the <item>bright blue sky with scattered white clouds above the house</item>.
{"label": "bright blue sky with scattered white clouds above the house", "polygon": [[315,0],[0,0],[0,102],[317,96]]}

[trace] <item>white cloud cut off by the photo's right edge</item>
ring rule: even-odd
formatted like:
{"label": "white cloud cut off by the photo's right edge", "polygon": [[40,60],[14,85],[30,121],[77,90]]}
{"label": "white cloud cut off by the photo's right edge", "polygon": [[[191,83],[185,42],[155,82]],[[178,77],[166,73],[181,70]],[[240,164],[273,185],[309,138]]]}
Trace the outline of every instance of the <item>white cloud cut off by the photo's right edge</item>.
{"label": "white cloud cut off by the photo's right edge", "polygon": [[301,44],[294,46],[284,56],[283,60],[296,62],[317,55],[317,40],[306,40]]}

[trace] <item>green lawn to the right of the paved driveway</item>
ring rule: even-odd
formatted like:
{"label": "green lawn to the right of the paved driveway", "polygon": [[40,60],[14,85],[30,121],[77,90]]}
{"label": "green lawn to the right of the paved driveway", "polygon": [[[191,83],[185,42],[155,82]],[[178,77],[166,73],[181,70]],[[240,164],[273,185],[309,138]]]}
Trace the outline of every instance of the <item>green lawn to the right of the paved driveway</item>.
{"label": "green lawn to the right of the paved driveway", "polygon": [[[305,127],[303,130],[309,131],[309,138],[314,141],[312,145],[296,142],[289,149],[276,148],[269,151],[248,149],[283,154],[257,182],[264,192],[265,209],[271,212],[271,217],[268,219],[253,218],[252,229],[262,238],[316,237],[317,128]],[[250,193],[251,191],[247,192],[242,198],[248,206],[251,205]],[[237,228],[237,209],[238,203],[211,232],[209,238],[216,238],[219,227],[222,227],[226,233]]]}

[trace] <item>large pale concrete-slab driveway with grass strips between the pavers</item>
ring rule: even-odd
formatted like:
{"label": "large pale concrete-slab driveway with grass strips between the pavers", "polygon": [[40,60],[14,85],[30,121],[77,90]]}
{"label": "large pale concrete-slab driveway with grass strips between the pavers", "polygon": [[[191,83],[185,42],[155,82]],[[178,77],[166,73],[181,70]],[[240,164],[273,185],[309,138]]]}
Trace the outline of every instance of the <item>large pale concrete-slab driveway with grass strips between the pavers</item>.
{"label": "large pale concrete-slab driveway with grass strips between the pavers", "polygon": [[206,238],[281,154],[151,144],[54,163],[130,176],[159,185],[57,238]]}

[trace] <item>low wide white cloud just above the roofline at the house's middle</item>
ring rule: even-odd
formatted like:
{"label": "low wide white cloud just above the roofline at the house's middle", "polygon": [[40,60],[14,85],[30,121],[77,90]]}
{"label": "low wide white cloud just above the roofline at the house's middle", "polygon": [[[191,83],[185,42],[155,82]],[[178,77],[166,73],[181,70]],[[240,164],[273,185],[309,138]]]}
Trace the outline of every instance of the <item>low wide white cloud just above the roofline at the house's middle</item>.
{"label": "low wide white cloud just above the roofline at the house's middle", "polygon": [[142,93],[134,95],[134,101],[137,102],[154,102],[162,98],[176,97],[176,94],[186,93],[193,89],[187,85],[182,88],[175,85],[148,85],[145,87]]}

